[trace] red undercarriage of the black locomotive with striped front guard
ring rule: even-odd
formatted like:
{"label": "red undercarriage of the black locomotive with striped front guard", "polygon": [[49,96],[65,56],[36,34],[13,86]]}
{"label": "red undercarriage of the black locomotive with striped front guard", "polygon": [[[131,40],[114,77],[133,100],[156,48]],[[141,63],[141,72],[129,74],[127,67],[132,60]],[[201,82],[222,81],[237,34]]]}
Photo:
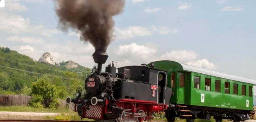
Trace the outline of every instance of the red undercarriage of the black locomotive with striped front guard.
{"label": "red undercarriage of the black locomotive with striped front guard", "polygon": [[[91,101],[84,100],[84,102],[80,102],[82,99],[79,99],[78,104],[75,104],[75,111],[78,112],[81,119],[143,122],[153,119],[154,113],[163,113],[165,109],[172,106],[152,103],[150,101],[132,101],[130,99],[105,99],[104,101],[94,99],[97,98],[92,98]],[[97,112],[99,109],[95,110],[94,108],[96,107],[101,108],[101,110]],[[91,109],[94,109],[94,112],[89,112]]]}

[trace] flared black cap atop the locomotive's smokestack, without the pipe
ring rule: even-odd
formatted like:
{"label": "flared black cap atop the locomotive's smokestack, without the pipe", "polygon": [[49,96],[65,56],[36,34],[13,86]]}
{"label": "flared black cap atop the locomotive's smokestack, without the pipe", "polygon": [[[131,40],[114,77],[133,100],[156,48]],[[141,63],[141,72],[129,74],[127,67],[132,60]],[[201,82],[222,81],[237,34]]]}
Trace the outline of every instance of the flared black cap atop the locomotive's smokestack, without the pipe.
{"label": "flared black cap atop the locomotive's smokestack, without the pipe", "polygon": [[108,54],[104,50],[95,50],[93,53],[93,60],[95,63],[99,64],[105,64],[105,62],[108,59]]}

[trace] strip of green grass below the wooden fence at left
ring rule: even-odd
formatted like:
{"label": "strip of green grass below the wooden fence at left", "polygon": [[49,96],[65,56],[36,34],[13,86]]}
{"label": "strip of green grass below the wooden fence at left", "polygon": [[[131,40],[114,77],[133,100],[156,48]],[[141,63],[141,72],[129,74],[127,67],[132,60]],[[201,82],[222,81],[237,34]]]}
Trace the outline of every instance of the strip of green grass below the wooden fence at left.
{"label": "strip of green grass below the wooden fence at left", "polygon": [[77,114],[76,112],[65,107],[55,110],[48,108],[34,108],[30,106],[0,106],[0,111]]}

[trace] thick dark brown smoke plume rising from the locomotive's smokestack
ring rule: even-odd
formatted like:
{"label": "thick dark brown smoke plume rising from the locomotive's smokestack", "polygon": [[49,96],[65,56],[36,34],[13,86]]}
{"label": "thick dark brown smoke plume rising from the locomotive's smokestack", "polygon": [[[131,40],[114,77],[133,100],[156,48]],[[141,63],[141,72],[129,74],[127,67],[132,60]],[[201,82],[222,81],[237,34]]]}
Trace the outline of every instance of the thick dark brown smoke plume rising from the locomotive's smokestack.
{"label": "thick dark brown smoke plume rising from the locomotive's smokestack", "polygon": [[124,11],[125,0],[54,0],[58,27],[80,33],[80,41],[90,42],[95,50],[105,50],[114,40],[113,16]]}

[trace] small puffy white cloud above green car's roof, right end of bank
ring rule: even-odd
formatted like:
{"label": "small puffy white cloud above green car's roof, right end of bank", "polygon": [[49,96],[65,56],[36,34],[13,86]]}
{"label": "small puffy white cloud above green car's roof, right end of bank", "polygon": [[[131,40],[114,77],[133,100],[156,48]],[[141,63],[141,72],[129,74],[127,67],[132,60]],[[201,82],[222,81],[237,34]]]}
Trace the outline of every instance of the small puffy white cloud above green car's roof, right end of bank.
{"label": "small puffy white cloud above green car's roof, right end of bank", "polygon": [[210,70],[217,68],[217,66],[215,66],[213,63],[209,62],[207,59],[188,62],[186,64],[192,65],[192,66],[197,66],[200,68],[206,68],[206,69],[210,69]]}

